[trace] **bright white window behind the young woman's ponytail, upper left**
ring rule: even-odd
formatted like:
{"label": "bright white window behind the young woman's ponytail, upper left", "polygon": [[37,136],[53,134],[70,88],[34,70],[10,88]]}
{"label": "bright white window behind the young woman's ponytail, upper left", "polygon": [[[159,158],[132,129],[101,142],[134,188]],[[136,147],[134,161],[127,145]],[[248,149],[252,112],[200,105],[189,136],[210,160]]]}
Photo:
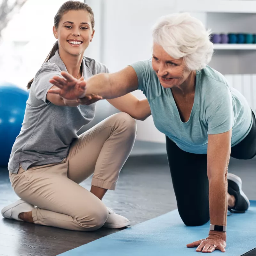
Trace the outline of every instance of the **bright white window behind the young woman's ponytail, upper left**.
{"label": "bright white window behind the young woman's ponytail, upper left", "polygon": [[13,16],[0,42],[0,80],[26,88],[56,41],[54,15],[64,2],[28,0]]}

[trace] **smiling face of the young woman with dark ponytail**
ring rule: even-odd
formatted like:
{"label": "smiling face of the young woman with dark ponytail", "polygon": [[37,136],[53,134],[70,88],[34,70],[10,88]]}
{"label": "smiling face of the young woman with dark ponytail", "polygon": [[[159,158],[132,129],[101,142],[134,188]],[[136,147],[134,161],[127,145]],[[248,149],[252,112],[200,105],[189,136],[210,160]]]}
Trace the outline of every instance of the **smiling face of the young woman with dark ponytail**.
{"label": "smiling face of the young woman with dark ponytail", "polygon": [[53,34],[59,40],[59,47],[72,55],[85,51],[93,38],[90,14],[87,11],[69,11],[65,13]]}

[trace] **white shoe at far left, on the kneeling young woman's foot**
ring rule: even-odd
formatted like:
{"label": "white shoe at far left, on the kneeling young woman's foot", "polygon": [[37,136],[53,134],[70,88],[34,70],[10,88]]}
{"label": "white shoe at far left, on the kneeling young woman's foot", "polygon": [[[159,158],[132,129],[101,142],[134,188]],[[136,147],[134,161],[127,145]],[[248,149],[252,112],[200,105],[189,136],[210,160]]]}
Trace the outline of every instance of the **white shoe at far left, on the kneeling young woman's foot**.
{"label": "white shoe at far left, on the kneeling young woman's foot", "polygon": [[[28,204],[23,200],[18,200],[15,203],[12,203],[6,207],[4,207],[1,211],[4,218],[20,220],[19,214],[21,212],[31,212],[35,208],[34,205]],[[23,221],[23,220],[20,220]]]}

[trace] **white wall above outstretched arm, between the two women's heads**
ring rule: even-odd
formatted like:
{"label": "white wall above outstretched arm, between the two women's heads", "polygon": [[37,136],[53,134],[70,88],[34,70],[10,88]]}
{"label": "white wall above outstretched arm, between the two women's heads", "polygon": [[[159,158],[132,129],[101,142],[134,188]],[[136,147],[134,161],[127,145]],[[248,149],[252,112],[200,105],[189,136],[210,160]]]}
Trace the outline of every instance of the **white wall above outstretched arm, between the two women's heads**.
{"label": "white wall above outstretched arm, between the two women's heads", "polygon": [[156,19],[175,10],[175,1],[108,0],[104,2],[103,61],[117,71],[151,57],[150,29]]}

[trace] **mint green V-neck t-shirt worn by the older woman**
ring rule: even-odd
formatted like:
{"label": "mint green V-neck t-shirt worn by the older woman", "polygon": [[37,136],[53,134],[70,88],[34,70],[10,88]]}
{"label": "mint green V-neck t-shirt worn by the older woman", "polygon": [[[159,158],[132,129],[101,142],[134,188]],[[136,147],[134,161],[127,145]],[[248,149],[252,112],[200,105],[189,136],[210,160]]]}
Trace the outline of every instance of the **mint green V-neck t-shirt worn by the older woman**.
{"label": "mint green V-neck t-shirt worn by the older woman", "polygon": [[206,154],[208,134],[232,128],[231,147],[250,132],[252,111],[244,96],[230,88],[225,77],[207,66],[196,71],[196,91],[188,122],[180,114],[170,88],[164,88],[150,60],[131,65],[139,87],[148,99],[156,128],[186,152]]}

